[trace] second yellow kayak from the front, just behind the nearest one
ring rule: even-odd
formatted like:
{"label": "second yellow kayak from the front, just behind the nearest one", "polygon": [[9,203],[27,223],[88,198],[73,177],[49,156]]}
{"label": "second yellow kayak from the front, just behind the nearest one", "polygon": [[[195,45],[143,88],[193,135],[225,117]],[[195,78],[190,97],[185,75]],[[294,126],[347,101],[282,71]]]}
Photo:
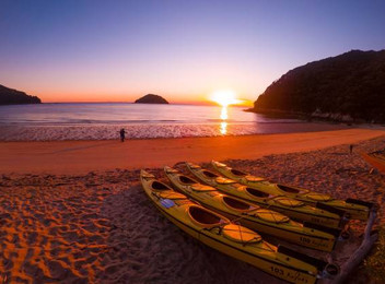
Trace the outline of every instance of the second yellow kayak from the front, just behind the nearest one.
{"label": "second yellow kayak from the front, just behind the nearest one", "polygon": [[[187,165],[189,167],[194,166],[192,164]],[[276,211],[262,209],[256,204],[223,194],[215,188],[201,185],[173,168],[165,167],[164,170],[171,182],[188,198],[231,220],[236,220],[242,225],[258,233],[265,233],[296,245],[327,252],[334,249],[336,240],[340,236],[341,232],[339,229],[323,232],[306,227]]]}

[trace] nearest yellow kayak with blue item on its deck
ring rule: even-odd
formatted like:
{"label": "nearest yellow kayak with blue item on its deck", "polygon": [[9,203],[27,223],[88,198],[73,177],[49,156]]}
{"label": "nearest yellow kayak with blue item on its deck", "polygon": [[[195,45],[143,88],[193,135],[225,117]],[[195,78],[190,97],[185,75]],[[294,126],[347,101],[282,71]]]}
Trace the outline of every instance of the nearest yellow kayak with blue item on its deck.
{"label": "nearest yellow kayak with blue item on its deck", "polygon": [[339,273],[335,264],[268,244],[257,233],[192,203],[145,170],[141,170],[140,180],[150,201],[165,217],[215,250],[290,283],[312,284]]}

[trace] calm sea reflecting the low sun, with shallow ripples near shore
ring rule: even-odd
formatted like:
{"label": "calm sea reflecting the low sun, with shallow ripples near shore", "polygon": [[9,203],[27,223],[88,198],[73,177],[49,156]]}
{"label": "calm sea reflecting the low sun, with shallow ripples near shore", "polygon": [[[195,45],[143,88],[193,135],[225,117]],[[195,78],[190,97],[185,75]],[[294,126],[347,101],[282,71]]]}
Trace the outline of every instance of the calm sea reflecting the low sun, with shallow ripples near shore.
{"label": "calm sea reflecting the low sun, with shallow ripples near shore", "polygon": [[1,141],[245,135],[342,129],[342,125],[271,119],[241,107],[145,104],[0,106]]}

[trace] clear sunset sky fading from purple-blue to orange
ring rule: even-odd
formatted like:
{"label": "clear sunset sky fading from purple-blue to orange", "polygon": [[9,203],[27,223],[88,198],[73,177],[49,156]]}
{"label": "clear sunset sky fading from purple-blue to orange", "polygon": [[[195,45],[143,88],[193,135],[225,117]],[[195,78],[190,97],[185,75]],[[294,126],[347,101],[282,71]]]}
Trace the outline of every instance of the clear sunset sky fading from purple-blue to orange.
{"label": "clear sunset sky fading from purple-blue to orange", "polygon": [[0,84],[43,102],[254,102],[289,70],[385,48],[385,1],[0,0]]}

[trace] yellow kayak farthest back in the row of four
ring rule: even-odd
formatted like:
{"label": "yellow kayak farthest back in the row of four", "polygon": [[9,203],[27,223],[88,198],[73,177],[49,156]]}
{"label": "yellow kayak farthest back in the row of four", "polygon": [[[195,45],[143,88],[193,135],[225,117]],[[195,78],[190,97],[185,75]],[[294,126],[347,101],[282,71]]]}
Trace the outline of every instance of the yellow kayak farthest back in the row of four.
{"label": "yellow kayak farthest back in the row of four", "polygon": [[368,220],[369,213],[374,205],[371,202],[364,202],[355,199],[339,200],[329,194],[318,193],[308,189],[292,187],[281,184],[273,184],[265,178],[255,177],[238,169],[231,168],[219,162],[211,162],[212,166],[223,176],[234,179],[247,187],[260,190],[265,193],[285,196],[292,199],[303,201],[310,205],[327,209],[335,208],[347,212],[350,218]]}

